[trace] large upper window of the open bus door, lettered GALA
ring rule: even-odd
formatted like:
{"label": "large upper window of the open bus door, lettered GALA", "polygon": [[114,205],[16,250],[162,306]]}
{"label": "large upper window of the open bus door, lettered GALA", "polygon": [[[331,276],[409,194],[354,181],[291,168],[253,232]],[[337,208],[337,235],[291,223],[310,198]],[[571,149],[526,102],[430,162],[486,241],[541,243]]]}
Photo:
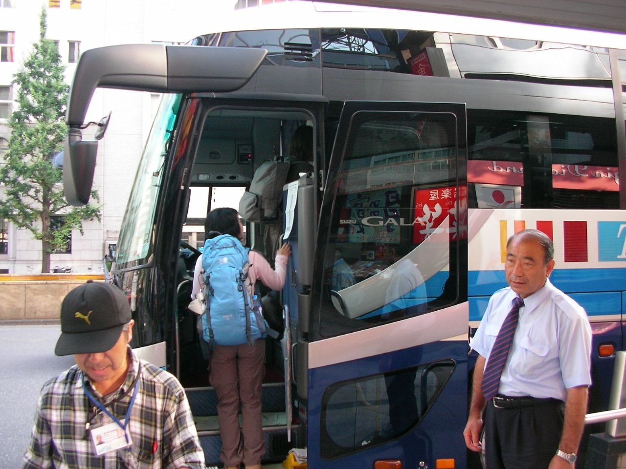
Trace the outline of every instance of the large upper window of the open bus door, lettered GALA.
{"label": "large upper window of the open bus door, lettered GALA", "polygon": [[460,234],[456,217],[464,216],[455,126],[453,114],[355,115],[325,267],[334,315],[376,323],[424,313],[441,300]]}

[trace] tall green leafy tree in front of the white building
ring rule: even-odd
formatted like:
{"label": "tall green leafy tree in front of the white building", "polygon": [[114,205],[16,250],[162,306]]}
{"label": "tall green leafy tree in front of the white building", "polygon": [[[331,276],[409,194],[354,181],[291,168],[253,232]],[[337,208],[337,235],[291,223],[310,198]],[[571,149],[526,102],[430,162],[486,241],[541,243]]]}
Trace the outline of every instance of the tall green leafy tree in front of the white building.
{"label": "tall green leafy tree in front of the white building", "polygon": [[[100,207],[70,206],[63,198],[61,170],[51,157],[63,148],[69,86],[58,46],[46,39],[46,10],[39,17],[39,42],[15,74],[18,109],[9,119],[11,137],[0,168],[4,185],[0,216],[41,240],[41,273],[50,271],[50,254],[67,248],[72,229],[83,234],[83,220],[100,219]],[[91,198],[98,203],[98,194]],[[61,229],[51,229],[50,217],[62,215]],[[58,227],[57,227],[58,228]]]}

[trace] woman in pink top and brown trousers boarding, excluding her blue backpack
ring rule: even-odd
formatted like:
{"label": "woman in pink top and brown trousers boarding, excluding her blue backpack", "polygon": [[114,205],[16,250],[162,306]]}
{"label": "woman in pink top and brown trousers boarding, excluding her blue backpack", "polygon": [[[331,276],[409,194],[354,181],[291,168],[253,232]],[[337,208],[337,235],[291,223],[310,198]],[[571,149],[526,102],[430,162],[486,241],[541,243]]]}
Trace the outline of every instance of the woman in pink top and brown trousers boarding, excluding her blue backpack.
{"label": "woman in pink top and brown trousers boarding, excluding her blue backpack", "polygon": [[[254,295],[254,284],[257,280],[272,290],[281,290],[285,283],[287,258],[291,248],[286,243],[276,252],[275,270],[267,260],[256,251],[241,246],[244,239],[244,227],[239,214],[232,208],[216,208],[210,211],[205,222],[207,241],[205,253],[198,258],[193,276],[192,299],[203,288],[207,278],[210,292],[213,287],[210,272],[203,273],[203,263],[210,266],[207,256],[210,256],[211,246],[217,242],[230,243],[235,250],[247,253],[247,281],[245,286],[248,298]],[[215,243],[214,243],[215,241]],[[243,251],[241,251],[243,250]],[[205,255],[206,254],[206,255]],[[204,258],[204,261],[203,261]],[[214,274],[220,281],[222,275]],[[216,282],[217,284],[217,282]],[[236,290],[233,289],[233,290]],[[230,290],[229,290],[230,291]],[[209,293],[210,295],[210,293]],[[217,296],[217,295],[216,295]],[[205,297],[210,303],[210,298]],[[233,305],[235,300],[233,300]],[[234,308],[234,306],[233,306]],[[208,312],[208,327],[217,318],[217,313]],[[203,324],[205,323],[203,316]],[[254,322],[254,318],[248,320]],[[213,328],[216,328],[215,326]],[[260,328],[262,329],[262,327]],[[213,334],[213,331],[212,331]],[[205,327],[205,338],[207,330]],[[217,340],[218,331],[215,331],[215,347],[212,351],[209,367],[209,380],[217,395],[217,415],[222,437],[220,459],[225,469],[237,469],[243,462],[246,469],[260,469],[262,456],[265,454],[265,439],[262,429],[261,390],[265,373],[265,333],[254,329],[244,343],[239,345],[220,345]],[[239,428],[239,408],[242,413],[242,429]]]}

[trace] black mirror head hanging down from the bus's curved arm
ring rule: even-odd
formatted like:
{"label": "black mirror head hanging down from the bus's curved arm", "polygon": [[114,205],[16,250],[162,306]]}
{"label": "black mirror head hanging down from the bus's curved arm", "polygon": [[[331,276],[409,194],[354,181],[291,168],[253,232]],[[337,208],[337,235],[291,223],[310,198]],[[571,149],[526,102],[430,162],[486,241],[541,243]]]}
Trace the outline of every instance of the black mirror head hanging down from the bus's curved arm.
{"label": "black mirror head hanging down from the bus's curved arm", "polygon": [[80,129],[69,129],[63,145],[63,191],[69,204],[89,202],[97,151],[98,141],[83,141]]}

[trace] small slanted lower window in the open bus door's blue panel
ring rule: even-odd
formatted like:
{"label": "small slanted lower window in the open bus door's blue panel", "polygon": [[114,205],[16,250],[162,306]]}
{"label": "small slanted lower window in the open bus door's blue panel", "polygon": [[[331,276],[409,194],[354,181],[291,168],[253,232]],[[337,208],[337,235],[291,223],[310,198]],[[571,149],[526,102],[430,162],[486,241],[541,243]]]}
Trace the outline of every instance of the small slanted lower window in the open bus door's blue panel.
{"label": "small slanted lower window in the open bus door's blue panel", "polygon": [[454,371],[454,361],[341,381],[322,397],[322,458],[332,459],[398,438],[428,409]]}

